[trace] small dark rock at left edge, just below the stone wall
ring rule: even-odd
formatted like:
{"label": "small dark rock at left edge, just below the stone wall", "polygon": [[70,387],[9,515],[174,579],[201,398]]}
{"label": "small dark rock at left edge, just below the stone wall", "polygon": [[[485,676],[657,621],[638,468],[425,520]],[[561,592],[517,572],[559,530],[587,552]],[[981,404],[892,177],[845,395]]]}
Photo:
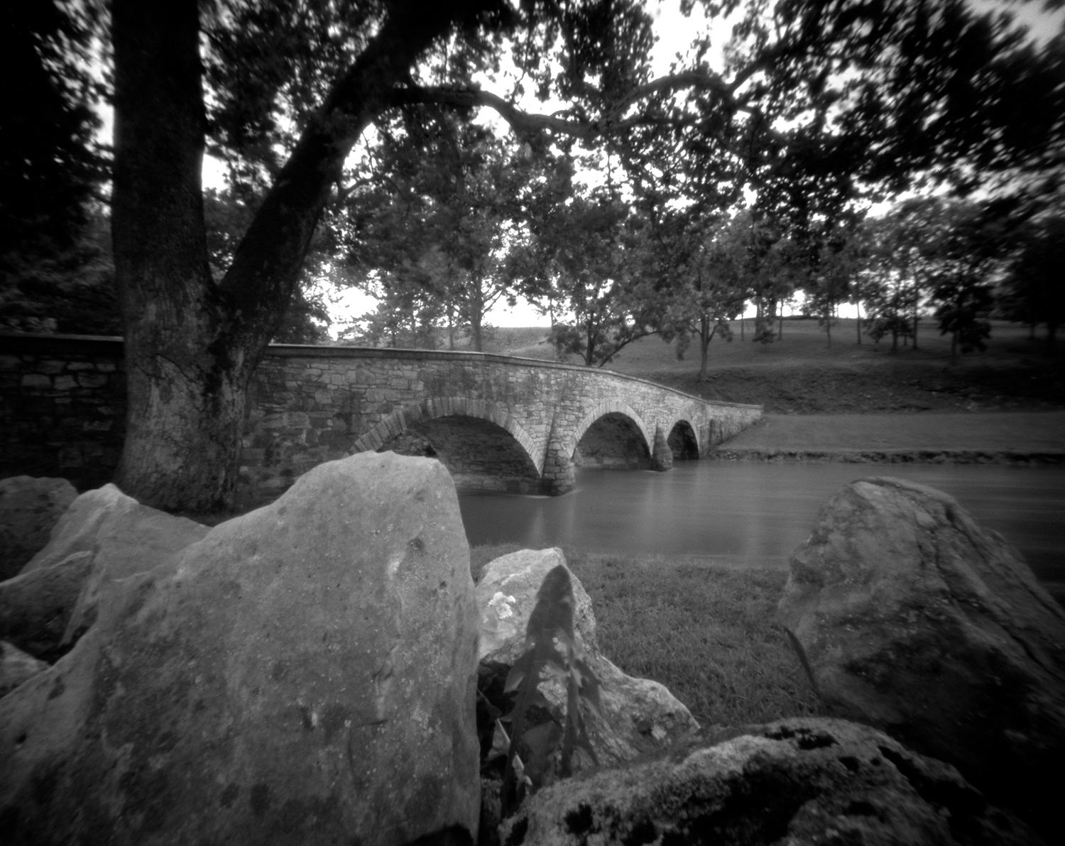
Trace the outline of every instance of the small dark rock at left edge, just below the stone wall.
{"label": "small dark rock at left edge, just below the stone wall", "polygon": [[66,479],[0,480],[0,581],[17,575],[48,543],[48,533],[76,496]]}

